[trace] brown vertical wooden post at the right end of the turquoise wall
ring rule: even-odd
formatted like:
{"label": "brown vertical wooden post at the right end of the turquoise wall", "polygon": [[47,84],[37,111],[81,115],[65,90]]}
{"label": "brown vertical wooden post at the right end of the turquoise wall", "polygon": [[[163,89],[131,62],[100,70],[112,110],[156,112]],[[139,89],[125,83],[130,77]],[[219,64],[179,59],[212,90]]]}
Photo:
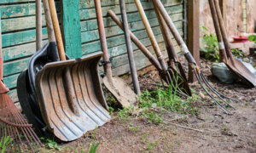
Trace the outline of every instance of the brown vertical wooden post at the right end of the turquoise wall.
{"label": "brown vertical wooden post at the right end of the turquoise wall", "polygon": [[[188,0],[188,34],[187,44],[189,51],[200,65],[200,0]],[[193,69],[189,66],[189,82],[195,82]]]}

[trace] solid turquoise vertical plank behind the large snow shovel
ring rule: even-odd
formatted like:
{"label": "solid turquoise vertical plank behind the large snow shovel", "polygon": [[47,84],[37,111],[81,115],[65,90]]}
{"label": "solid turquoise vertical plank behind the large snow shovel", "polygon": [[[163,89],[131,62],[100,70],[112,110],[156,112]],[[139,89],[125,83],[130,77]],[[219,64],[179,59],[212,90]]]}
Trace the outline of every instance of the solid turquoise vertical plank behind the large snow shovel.
{"label": "solid turquoise vertical plank behind the large snow shovel", "polygon": [[62,13],[66,53],[72,59],[79,58],[82,56],[79,0],[62,0]]}

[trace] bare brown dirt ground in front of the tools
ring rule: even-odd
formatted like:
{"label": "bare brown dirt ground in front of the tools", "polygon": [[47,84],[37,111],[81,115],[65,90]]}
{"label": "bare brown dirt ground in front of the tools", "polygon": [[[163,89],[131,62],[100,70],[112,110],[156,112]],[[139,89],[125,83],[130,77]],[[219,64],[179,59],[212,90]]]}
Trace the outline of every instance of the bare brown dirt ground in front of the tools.
{"label": "bare brown dirt ground in front of the tools", "polygon": [[[207,65],[206,65],[207,64]],[[192,105],[201,105],[200,113],[185,115],[167,112],[164,122],[148,123],[144,118],[131,116],[125,122],[113,113],[112,120],[95,132],[68,144],[61,144],[61,152],[87,150],[90,142],[100,143],[96,152],[256,152],[256,90],[241,83],[225,85],[212,77],[210,64],[202,61],[202,70],[214,88],[240,102],[231,102],[236,111],[224,114],[217,105],[198,99]],[[157,72],[139,77],[142,90],[155,90]],[[158,80],[159,81],[159,80]],[[191,84],[201,91],[195,82]],[[48,152],[53,150],[44,150]],[[56,151],[57,152],[57,151]]]}

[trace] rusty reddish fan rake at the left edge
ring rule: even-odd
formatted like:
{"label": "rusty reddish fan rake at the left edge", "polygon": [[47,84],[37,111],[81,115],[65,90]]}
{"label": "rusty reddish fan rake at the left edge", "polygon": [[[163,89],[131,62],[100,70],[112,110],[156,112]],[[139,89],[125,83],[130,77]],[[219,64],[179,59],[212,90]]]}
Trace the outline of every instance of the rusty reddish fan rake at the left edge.
{"label": "rusty reddish fan rake at the left edge", "polygon": [[[0,14],[1,16],[1,14]],[[7,94],[9,88],[3,82],[3,54],[2,54],[2,34],[0,20],[0,151],[1,152],[26,152],[25,145],[28,145],[32,152],[38,151],[43,146],[40,139],[32,129],[32,124],[28,124],[15,103]],[[24,136],[26,144],[21,139]]]}

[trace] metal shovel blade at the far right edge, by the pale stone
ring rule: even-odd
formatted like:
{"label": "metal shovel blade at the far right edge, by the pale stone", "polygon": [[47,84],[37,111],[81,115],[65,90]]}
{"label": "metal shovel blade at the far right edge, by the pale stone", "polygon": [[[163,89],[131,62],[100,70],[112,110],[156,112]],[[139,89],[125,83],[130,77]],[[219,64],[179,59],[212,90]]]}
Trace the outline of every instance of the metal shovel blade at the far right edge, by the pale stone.
{"label": "metal shovel blade at the far right edge, by the pale stone", "polygon": [[224,63],[229,67],[230,71],[235,73],[236,77],[239,77],[241,82],[246,83],[249,87],[254,88],[256,86],[256,77],[251,71],[247,69],[241,61],[234,59],[232,63],[229,59]]}

